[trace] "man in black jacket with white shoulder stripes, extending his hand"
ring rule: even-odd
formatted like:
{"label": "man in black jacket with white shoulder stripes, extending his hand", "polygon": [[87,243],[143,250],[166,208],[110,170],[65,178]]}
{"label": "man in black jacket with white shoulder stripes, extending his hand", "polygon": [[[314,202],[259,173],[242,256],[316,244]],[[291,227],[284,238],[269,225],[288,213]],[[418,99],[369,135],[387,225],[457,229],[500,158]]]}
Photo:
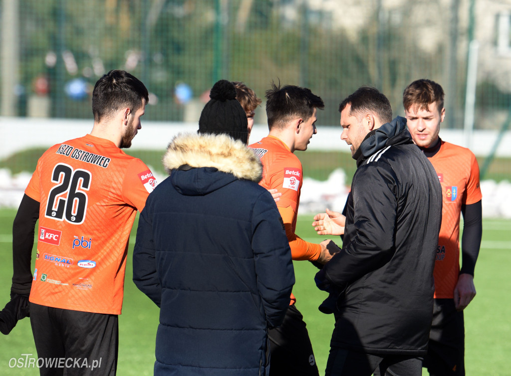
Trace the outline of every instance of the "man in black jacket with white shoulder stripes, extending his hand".
{"label": "man in black jacket with white shoulder stripes, extending his hand", "polygon": [[[442,215],[436,173],[412,142],[406,120],[391,120],[387,98],[361,87],[341,102],[341,139],[357,171],[343,215],[313,225],[343,234],[342,249],[316,274],[334,313],[327,376],[420,376],[433,309],[433,265]],[[344,218],[344,221],[340,221]],[[344,226],[344,227],[342,227]]]}

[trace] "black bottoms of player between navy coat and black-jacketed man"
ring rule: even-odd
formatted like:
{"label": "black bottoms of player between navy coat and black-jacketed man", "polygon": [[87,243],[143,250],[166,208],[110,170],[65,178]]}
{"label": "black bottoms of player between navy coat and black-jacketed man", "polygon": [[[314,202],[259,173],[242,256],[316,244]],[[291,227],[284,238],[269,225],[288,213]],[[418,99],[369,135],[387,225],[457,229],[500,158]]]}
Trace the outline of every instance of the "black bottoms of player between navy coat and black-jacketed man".
{"label": "black bottoms of player between navy coat and black-jacketed man", "polygon": [[281,326],[268,331],[270,376],[319,376],[303,316],[289,306]]}

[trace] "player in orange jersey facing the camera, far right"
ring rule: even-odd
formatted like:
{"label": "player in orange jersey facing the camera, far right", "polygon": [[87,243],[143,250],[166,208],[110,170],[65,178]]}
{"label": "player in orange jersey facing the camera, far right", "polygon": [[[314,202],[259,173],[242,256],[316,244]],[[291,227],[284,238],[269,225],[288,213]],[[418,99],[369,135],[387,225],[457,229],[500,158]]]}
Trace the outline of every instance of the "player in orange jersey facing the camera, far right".
{"label": "player in orange jersey facing the camera, far right", "polygon": [[[435,260],[433,324],[424,367],[431,375],[464,375],[463,309],[474,298],[474,268],[482,236],[479,166],[469,149],[438,137],[445,118],[444,90],[416,80],[404,90],[403,105],[413,142],[428,157],[442,185],[442,227]],[[459,219],[463,215],[461,270]]]}

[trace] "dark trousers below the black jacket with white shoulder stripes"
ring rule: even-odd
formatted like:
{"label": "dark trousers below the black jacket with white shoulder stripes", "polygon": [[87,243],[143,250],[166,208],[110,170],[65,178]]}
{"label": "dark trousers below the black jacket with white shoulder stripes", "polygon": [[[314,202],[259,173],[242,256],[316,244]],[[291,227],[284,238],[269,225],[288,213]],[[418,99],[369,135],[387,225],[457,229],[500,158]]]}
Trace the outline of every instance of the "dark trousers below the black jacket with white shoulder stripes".
{"label": "dark trousers below the black jacket with white shoulder stripes", "polygon": [[421,376],[422,360],[412,356],[367,354],[338,347],[330,349],[325,376]]}

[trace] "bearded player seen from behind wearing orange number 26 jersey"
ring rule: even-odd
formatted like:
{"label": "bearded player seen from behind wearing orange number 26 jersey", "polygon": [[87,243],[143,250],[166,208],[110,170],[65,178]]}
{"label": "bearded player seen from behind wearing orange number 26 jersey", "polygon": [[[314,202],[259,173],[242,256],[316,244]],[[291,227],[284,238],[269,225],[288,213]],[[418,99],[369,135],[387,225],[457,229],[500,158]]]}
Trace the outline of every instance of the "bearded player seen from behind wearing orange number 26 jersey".
{"label": "bearded player seen from behind wearing orange number 26 jersey", "polygon": [[[92,92],[92,131],[44,152],[19,205],[11,296],[30,295],[41,375],[89,374],[92,364],[95,374],[117,369],[129,234],[156,185],[149,168],[120,148],[142,128],[147,102],[146,87],[129,73],[101,77]],[[65,367],[46,361],[59,358]]]}

